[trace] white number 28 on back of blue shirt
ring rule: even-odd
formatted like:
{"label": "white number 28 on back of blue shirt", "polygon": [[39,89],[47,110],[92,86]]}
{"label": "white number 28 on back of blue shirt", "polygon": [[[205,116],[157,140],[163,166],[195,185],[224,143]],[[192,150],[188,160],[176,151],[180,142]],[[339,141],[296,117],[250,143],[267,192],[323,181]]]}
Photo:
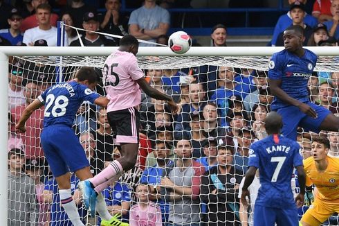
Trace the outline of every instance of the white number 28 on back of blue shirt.
{"label": "white number 28 on back of blue shirt", "polygon": [[[46,96],[46,103],[45,117],[49,117],[51,114],[53,117],[59,117],[66,114],[66,106],[68,105],[68,98],[66,96],[62,95],[55,98],[53,94],[48,94]],[[52,105],[54,106],[52,107]],[[51,107],[51,112],[48,112]]]}

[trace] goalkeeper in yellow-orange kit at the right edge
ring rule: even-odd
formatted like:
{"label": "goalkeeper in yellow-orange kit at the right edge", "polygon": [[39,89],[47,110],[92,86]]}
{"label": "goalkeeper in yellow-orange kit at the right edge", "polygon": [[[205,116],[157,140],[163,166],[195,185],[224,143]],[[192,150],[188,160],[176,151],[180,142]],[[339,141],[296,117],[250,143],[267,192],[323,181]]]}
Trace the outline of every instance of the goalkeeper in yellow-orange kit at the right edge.
{"label": "goalkeeper in yellow-orange kit at the right edge", "polygon": [[329,140],[312,140],[312,157],[304,159],[306,186],[315,185],[318,195],[302,216],[303,226],[318,226],[329,216],[339,213],[339,158],[330,157]]}

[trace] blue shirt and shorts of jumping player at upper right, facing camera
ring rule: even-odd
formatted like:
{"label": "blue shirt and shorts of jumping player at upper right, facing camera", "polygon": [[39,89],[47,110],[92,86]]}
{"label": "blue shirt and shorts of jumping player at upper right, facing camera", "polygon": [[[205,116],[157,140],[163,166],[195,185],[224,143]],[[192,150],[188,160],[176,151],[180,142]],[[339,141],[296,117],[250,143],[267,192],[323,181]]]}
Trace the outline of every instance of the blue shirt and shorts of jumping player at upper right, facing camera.
{"label": "blue shirt and shorts of jumping player at upper right, facing camera", "polygon": [[282,80],[281,89],[298,101],[310,105],[318,117],[313,119],[301,112],[298,107],[288,105],[280,98],[275,97],[271,110],[282,116],[282,134],[285,137],[296,140],[297,127],[301,126],[306,131],[320,132],[319,128],[330,113],[325,107],[311,103],[309,99],[308,82],[317,62],[315,53],[304,49],[305,53],[299,57],[287,50],[274,53],[269,63],[268,78],[270,80]]}

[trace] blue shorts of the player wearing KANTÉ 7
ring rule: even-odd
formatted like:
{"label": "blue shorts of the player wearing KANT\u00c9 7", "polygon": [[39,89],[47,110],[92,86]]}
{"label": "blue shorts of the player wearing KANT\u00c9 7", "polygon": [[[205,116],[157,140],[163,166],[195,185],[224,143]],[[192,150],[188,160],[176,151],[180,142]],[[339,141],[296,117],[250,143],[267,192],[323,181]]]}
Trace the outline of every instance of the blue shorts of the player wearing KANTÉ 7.
{"label": "blue shorts of the player wearing KANT\u00c9 7", "polygon": [[296,226],[299,224],[297,208],[278,209],[255,205],[254,226]]}

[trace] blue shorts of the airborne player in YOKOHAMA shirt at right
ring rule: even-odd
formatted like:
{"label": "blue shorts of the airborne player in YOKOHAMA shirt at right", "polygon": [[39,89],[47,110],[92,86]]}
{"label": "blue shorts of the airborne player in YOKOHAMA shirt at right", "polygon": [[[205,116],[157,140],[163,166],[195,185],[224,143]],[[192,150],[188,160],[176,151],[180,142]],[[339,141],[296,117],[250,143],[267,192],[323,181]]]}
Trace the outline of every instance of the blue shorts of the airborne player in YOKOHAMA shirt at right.
{"label": "blue shorts of the airborne player in YOKOHAMA shirt at right", "polygon": [[315,105],[311,102],[306,104],[310,105],[313,110],[317,112],[318,117],[316,119],[304,114],[295,106],[282,107],[277,110],[277,113],[282,116],[282,123],[284,124],[282,127],[282,134],[284,134],[284,137],[296,140],[298,126],[304,128],[306,132],[320,132],[319,128],[322,121],[324,121],[331,112],[327,108]]}

